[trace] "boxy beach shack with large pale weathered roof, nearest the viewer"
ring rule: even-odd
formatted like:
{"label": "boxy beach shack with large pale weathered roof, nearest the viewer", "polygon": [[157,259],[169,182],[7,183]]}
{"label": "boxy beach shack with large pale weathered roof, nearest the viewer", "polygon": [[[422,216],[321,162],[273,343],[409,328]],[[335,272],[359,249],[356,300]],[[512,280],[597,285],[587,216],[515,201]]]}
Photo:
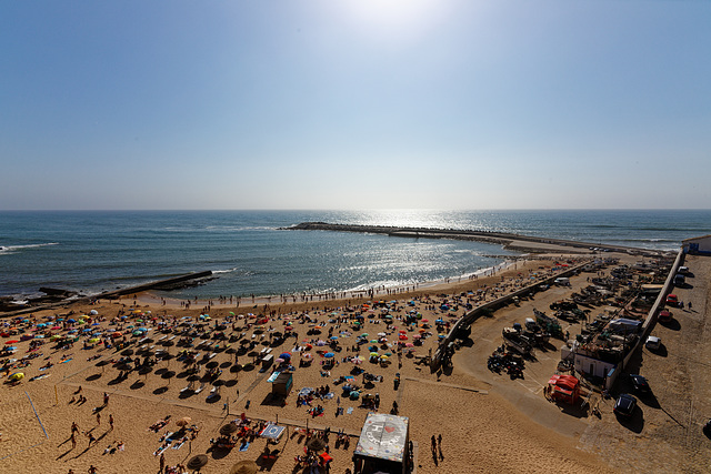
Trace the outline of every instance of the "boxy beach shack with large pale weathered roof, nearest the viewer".
{"label": "boxy beach shack with large pale weathered roof, nearest the viewer", "polygon": [[356,474],[410,472],[409,418],[369,413],[353,453]]}

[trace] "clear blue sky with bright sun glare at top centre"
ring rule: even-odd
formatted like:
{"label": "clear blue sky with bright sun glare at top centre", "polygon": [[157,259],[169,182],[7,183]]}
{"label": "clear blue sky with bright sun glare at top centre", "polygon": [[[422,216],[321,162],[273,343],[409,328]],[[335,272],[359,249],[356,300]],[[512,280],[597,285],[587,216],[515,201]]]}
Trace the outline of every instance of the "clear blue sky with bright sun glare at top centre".
{"label": "clear blue sky with bright sun glare at top centre", "polygon": [[0,210],[711,208],[711,1],[0,2]]}

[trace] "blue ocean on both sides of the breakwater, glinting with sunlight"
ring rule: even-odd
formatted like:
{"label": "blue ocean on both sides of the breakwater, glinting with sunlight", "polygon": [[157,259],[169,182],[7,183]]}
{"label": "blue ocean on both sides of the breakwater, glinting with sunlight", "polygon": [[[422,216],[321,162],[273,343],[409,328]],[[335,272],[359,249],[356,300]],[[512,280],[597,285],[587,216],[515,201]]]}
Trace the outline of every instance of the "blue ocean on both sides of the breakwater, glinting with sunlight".
{"label": "blue ocean on both sides of the breakwater, glinting with sunlight", "polygon": [[367,290],[469,275],[501,245],[326,231],[300,222],[471,229],[655,250],[711,233],[711,211],[3,211],[0,296],[84,294],[192,271],[218,279],[172,297]]}

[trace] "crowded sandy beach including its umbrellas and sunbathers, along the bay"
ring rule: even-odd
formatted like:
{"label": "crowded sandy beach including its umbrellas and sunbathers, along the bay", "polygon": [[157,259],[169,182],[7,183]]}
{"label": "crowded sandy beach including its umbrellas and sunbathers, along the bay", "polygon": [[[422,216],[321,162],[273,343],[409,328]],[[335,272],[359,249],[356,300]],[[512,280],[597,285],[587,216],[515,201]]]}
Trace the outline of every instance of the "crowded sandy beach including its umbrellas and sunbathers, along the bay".
{"label": "crowded sandy beach including its umbrellas and sunbathers, along the bay", "polygon": [[[351,456],[370,411],[362,406],[363,395],[377,395],[378,411],[382,413],[389,413],[395,402],[399,414],[410,418],[410,437],[418,446],[418,472],[543,472],[550,471],[551,463],[567,471],[610,471],[594,454],[578,450],[574,436],[529,420],[509,400],[489,390],[490,382],[459,370],[457,364],[451,372],[430,373],[427,364],[419,363],[422,356],[434,352],[439,334],[444,334],[449,324],[463,314],[465,304],[480,304],[550,275],[553,263],[550,256],[531,258],[494,275],[390,296],[375,295],[373,300],[267,306],[263,301],[256,301],[239,309],[234,304],[213,304],[209,317],[201,311],[207,302],[188,310],[180,302],[163,304],[154,295],[141,294],[136,305],[132,297],[99,301],[8,321],[17,327],[17,334],[11,335],[17,340],[27,333],[67,335],[72,330],[77,332],[70,336],[97,332],[101,335],[80,337],[72,346],[63,347],[49,339],[33,339],[44,343],[31,352],[30,341],[12,343],[17,351],[11,359],[33,359],[27,361],[27,366],[10,369],[10,373],[24,375],[17,385],[6,383],[0,389],[6,413],[0,426],[2,471],[80,473],[93,465],[99,473],[157,472],[157,453],[166,446],[166,440],[172,440],[166,435],[179,433],[162,451],[166,466],[186,465],[193,456],[207,454],[208,463],[201,470],[204,473],[229,472],[243,460],[273,473],[301,472],[294,458],[304,454],[303,430],[308,425],[330,428],[330,472],[343,473],[351,467]],[[408,315],[412,324],[407,323]],[[76,322],[68,323],[69,320]],[[442,324],[438,325],[437,320]],[[357,321],[362,324],[356,325]],[[481,322],[494,323],[495,319]],[[46,325],[38,329],[37,324]],[[133,336],[132,331],[139,327],[144,332]],[[186,329],[194,329],[200,335],[172,337]],[[111,333],[116,332],[123,335],[114,339]],[[224,333],[226,340],[214,339],[218,332]],[[282,340],[277,333],[288,336]],[[181,337],[191,340],[192,346],[176,344]],[[116,349],[124,339],[132,342],[129,356]],[[10,340],[4,339],[6,345]],[[141,340],[142,343],[137,342]],[[108,349],[107,343],[114,346]],[[203,343],[211,347],[198,349]],[[242,345],[249,350],[240,349]],[[181,351],[200,353],[198,359],[202,362],[197,374],[190,372],[194,364],[181,360],[186,355]],[[284,361],[282,365],[294,369],[293,389],[286,404],[271,397],[272,384],[267,380],[279,362],[260,370],[259,359],[267,351]],[[333,355],[327,356],[328,352]],[[291,359],[279,359],[282,353]],[[306,353],[310,355],[304,356]],[[170,359],[162,359],[163,354],[170,354]],[[212,359],[202,359],[210,354],[214,354]],[[141,361],[148,356],[153,364],[146,370],[123,366],[124,377],[119,377],[122,357],[136,356]],[[333,366],[326,369],[328,365],[323,364],[329,361]],[[217,376],[207,376],[209,367]],[[127,373],[128,369],[132,370]],[[367,381],[359,372],[375,380]],[[342,377],[348,376],[353,379],[343,382]],[[346,383],[360,389],[358,400],[351,400],[342,390]],[[199,393],[182,391],[200,385],[203,389]],[[323,389],[330,395],[298,406],[298,393],[306,387]],[[109,399],[107,405],[104,394]],[[79,402],[80,396],[86,402]],[[322,413],[309,412],[319,406]],[[259,428],[259,422],[278,422],[286,426],[286,435],[277,445],[256,437],[243,450],[242,441],[233,448],[211,448],[210,441],[220,436],[220,427],[239,422],[242,414],[252,421],[253,430]],[[110,416],[113,426],[109,425]],[[167,416],[170,418],[166,426],[157,432],[149,430]],[[181,431],[177,422],[183,417],[191,421]],[[78,425],[76,447],[71,442],[72,422]],[[337,443],[339,431],[348,435],[348,447]],[[434,457],[430,438],[440,434],[441,456]],[[278,452],[264,456],[266,448]]]}

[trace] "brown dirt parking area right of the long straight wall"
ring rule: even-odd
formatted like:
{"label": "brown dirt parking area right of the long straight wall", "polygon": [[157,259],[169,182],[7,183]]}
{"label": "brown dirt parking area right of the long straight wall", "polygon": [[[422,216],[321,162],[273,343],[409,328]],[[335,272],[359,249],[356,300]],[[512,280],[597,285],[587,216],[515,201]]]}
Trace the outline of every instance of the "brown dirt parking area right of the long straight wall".
{"label": "brown dirt parking area right of the long straight wall", "polygon": [[[601,455],[625,472],[709,472],[711,440],[702,431],[711,417],[711,325],[708,300],[711,258],[687,256],[691,274],[673,293],[684,309],[670,309],[672,319],[651,334],[661,339],[657,351],[638,350],[613,397],[601,400],[601,418],[590,417],[581,448]],[[691,309],[688,307],[691,303]],[[630,373],[644,375],[651,394],[635,393]],[[614,396],[631,393],[638,407],[629,420],[618,418]]]}

